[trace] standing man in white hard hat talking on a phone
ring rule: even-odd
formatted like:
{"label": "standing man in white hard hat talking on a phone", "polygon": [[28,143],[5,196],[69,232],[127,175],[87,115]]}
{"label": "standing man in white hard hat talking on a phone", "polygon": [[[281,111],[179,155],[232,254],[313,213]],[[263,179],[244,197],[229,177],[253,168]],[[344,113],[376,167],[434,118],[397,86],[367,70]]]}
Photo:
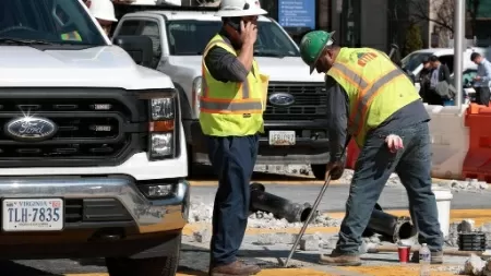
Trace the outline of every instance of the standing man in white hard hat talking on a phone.
{"label": "standing man in white hard hat talking on a phone", "polygon": [[209,275],[255,275],[236,259],[249,217],[249,183],[263,127],[263,84],[254,60],[256,0],[223,0],[221,31],[203,51],[200,124],[218,176],[213,211]]}

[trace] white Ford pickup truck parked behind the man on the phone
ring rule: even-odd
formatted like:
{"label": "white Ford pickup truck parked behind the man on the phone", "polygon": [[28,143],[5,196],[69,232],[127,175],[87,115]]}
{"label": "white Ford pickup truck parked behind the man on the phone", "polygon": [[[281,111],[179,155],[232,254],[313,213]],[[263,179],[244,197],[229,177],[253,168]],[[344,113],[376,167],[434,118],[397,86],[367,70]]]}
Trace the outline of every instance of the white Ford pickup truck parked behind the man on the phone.
{"label": "white Ford pickup truck parked behind the man on the phone", "polygon": [[[193,164],[208,164],[197,121],[201,62],[206,44],[221,27],[221,20],[214,15],[216,9],[197,7],[135,10],[117,5],[121,17],[113,36],[152,38],[152,68],[172,79],[182,99],[182,122],[192,171]],[[270,75],[265,135],[260,140],[258,165],[310,164],[315,177],[324,179],[330,158],[324,75],[309,74],[298,46],[273,19],[260,16],[254,50],[260,70]]]}

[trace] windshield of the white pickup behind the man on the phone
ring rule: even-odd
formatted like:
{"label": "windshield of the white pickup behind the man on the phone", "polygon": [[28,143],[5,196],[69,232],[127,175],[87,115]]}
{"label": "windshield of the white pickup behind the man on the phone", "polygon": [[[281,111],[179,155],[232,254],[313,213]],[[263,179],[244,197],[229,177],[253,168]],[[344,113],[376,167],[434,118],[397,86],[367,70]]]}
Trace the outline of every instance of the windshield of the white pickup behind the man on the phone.
{"label": "windshield of the white pickup behind the man on the phone", "polygon": [[[199,56],[221,28],[221,21],[176,20],[167,23],[172,56]],[[297,46],[273,22],[259,22],[255,57],[300,57]]]}

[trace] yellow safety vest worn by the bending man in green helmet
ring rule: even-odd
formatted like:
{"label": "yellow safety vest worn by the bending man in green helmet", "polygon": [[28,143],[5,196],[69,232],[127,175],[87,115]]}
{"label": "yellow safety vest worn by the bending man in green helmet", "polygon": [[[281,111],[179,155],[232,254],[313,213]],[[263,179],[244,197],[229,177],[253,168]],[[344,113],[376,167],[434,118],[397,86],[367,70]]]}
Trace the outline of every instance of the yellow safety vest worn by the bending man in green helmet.
{"label": "yellow safety vest worn by the bending man in green helmet", "polygon": [[370,130],[420,99],[406,74],[375,49],[342,48],[327,75],[348,94],[348,132],[360,147]]}

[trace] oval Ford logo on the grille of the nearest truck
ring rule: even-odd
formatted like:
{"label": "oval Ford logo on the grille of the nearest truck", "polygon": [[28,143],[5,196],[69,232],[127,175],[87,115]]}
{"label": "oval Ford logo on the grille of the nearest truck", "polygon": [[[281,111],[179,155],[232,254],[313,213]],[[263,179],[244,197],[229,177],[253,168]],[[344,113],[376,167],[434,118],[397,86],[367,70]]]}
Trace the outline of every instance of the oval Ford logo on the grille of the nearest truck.
{"label": "oval Ford logo on the grille of the nearest truck", "polygon": [[15,118],[4,127],[7,135],[19,141],[43,141],[52,137],[58,127],[49,119],[38,117]]}

